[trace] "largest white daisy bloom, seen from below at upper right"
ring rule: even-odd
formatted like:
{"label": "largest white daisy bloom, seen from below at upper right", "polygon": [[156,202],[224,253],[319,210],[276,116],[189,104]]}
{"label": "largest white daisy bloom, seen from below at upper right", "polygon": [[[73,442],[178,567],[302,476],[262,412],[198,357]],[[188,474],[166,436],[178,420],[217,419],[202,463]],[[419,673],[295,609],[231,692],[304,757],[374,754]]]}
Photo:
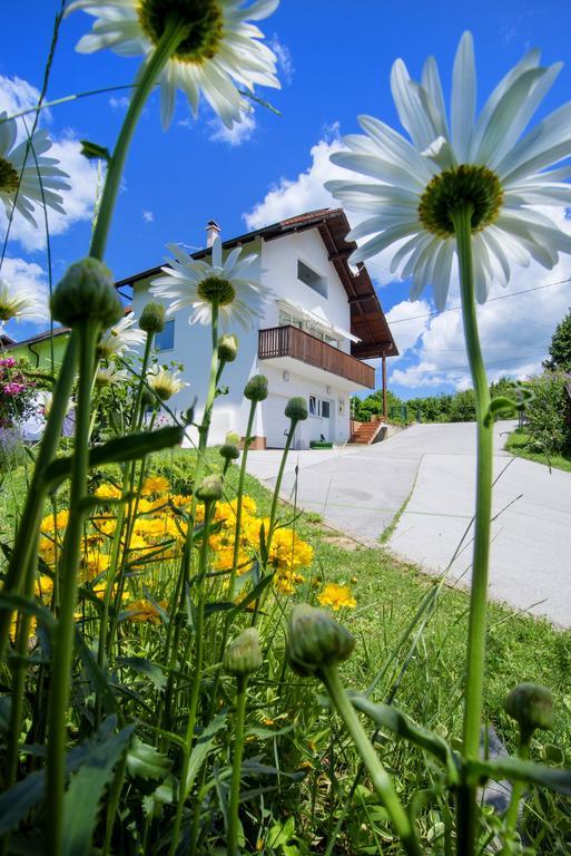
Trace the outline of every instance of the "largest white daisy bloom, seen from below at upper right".
{"label": "largest white daisy bloom, seen from below at upper right", "polygon": [[[345,137],[339,166],[372,182],[334,181],[326,188],[347,207],[368,216],[347,237],[367,236],[351,261],[362,262],[395,242],[391,270],[412,276],[411,299],[432,284],[439,310],[446,303],[456,242],[450,211],[470,203],[475,292],[485,302],[492,281],[506,285],[513,264],[533,259],[544,268],[571,252],[571,236],[538,206],[571,204],[563,179],[571,168],[544,172],[571,156],[571,103],[523,135],[555,80],[561,64],[539,65],[530,50],[496,86],[475,115],[476,78],[472,36],[459,45],[446,115],[439,69],[430,57],[421,82],[397,59],[391,88],[411,142],[383,121],[361,116],[366,136]],[[523,135],[523,136],[522,136]],[[373,235],[373,237],[371,237]]]}

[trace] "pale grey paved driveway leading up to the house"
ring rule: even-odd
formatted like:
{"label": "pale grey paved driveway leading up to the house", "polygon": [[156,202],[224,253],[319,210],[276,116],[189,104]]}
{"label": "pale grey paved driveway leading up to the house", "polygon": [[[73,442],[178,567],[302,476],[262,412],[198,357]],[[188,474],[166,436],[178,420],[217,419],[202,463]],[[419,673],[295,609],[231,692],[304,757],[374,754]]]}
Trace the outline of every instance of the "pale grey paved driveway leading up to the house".
{"label": "pale grey paved driveway leading up to the house", "polygon": [[[490,593],[520,610],[571,626],[571,474],[503,451],[513,422],[495,427]],[[429,573],[450,564],[470,526],[475,426],[416,425],[385,442],[332,451],[296,451],[283,496],[322,514],[335,528],[376,544],[408,498],[390,548]],[[279,451],[250,453],[248,469],[269,487]],[[297,468],[297,473],[296,473]],[[449,570],[470,581],[471,533]]]}

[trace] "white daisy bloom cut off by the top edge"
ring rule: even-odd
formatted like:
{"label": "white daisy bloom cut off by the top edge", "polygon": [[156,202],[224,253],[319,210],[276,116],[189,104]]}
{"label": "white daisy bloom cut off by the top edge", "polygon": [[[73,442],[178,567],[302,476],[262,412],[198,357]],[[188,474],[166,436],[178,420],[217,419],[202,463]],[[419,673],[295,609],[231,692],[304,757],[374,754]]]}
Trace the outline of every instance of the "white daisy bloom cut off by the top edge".
{"label": "white daisy bloom cut off by the top edge", "polygon": [[188,26],[160,75],[160,117],[168,128],[181,89],[197,113],[200,93],[232,128],[248,109],[238,86],[279,88],[276,57],[260,39],[264,33],[250,21],[267,18],[279,0],[257,0],[247,8],[242,0],[75,0],[68,13],[83,9],[97,20],[92,31],[77,45],[82,54],[111,48],[122,56],[148,56],[158,43],[168,20]]}

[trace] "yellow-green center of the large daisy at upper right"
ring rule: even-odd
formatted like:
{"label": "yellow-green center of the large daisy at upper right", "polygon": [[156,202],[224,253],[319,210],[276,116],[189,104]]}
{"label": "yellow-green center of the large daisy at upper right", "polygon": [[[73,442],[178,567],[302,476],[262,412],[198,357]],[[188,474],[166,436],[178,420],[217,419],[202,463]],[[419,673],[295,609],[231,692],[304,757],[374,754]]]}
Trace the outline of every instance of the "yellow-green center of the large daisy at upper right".
{"label": "yellow-green center of the large daisy at upper right", "polygon": [[452,213],[472,206],[472,232],[481,232],[500,214],[503,189],[499,177],[486,166],[462,164],[444,169],[427,184],[421,196],[422,225],[439,237],[454,234]]}

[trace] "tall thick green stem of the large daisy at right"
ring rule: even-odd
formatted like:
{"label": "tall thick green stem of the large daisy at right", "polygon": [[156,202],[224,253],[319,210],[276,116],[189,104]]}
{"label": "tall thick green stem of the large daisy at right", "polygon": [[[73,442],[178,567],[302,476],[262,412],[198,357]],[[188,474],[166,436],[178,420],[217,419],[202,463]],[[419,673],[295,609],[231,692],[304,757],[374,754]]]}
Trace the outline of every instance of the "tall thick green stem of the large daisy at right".
{"label": "tall thick green stem of the large daisy at right", "polygon": [[[466,205],[451,213],[456,235],[460,264],[460,291],[462,319],[466,341],[467,360],[474,385],[478,422],[476,503],[474,524],[474,552],[470,593],[467,631],[466,689],[464,694],[464,757],[480,756],[482,727],[485,634],[488,620],[488,567],[490,560],[490,532],[492,519],[492,466],[493,420],[490,417],[490,389],[485,373],[474,296],[474,270],[472,262],[472,206]],[[476,833],[476,792],[472,786],[459,789],[457,853],[474,853]]]}

